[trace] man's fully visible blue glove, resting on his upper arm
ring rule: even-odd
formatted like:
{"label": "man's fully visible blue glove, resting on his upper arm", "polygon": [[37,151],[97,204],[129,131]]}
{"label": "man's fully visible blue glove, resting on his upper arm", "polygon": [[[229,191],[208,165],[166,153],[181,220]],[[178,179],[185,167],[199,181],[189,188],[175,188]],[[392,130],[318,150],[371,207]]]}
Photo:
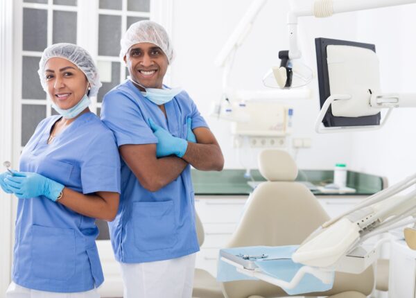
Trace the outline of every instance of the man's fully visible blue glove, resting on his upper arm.
{"label": "man's fully visible blue glove, resting on his upper arm", "polygon": [[153,130],[153,134],[155,134],[159,141],[156,144],[157,157],[165,157],[168,155],[176,155],[177,157],[184,156],[188,148],[187,140],[173,137],[170,132],[157,126],[152,119],[149,119],[149,124],[150,128]]}

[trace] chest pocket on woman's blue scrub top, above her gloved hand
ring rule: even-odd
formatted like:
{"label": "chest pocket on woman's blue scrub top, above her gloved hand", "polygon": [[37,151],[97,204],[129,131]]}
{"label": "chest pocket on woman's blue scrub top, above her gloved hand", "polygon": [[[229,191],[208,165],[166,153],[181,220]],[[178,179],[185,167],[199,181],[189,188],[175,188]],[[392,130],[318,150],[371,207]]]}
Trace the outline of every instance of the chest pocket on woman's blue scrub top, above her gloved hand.
{"label": "chest pocket on woman's blue scrub top, above her gloved hand", "polygon": [[64,186],[71,186],[70,177],[72,171],[73,165],[46,157],[40,161],[36,172],[53,179],[53,181],[64,184]]}

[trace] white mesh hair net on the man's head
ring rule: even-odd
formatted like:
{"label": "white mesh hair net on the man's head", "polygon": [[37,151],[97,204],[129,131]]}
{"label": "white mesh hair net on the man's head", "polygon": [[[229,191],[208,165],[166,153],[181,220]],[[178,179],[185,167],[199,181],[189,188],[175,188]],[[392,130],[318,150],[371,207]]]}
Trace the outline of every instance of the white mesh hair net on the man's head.
{"label": "white mesh hair net on the man's head", "polygon": [[124,62],[124,55],[128,53],[128,50],[135,44],[141,42],[150,42],[159,46],[168,58],[169,64],[173,60],[173,47],[171,39],[168,36],[166,30],[155,21],[137,21],[132,24],[124,36],[121,37],[121,51],[120,60]]}

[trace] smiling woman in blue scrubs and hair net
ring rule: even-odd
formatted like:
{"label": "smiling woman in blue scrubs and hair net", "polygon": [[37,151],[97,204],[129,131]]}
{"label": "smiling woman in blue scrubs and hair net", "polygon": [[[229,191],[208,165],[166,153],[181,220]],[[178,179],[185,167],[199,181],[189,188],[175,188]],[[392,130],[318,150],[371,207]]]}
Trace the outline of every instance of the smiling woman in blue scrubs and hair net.
{"label": "smiling woman in blue scrubs and hair net", "polygon": [[88,107],[101,82],[89,53],[74,44],[45,49],[38,72],[60,115],[37,125],[19,172],[0,177],[3,191],[19,198],[6,297],[99,297],[95,220],[113,220],[120,193],[114,136]]}

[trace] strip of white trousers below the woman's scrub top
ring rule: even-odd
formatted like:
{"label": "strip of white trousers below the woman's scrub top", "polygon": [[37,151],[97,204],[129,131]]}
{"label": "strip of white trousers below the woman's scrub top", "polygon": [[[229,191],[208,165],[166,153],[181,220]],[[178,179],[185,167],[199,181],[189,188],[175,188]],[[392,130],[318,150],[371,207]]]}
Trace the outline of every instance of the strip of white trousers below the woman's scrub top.
{"label": "strip of white trousers below the woman's scrub top", "polygon": [[73,293],[44,292],[24,288],[12,282],[6,291],[6,298],[100,298],[100,295],[96,289]]}

